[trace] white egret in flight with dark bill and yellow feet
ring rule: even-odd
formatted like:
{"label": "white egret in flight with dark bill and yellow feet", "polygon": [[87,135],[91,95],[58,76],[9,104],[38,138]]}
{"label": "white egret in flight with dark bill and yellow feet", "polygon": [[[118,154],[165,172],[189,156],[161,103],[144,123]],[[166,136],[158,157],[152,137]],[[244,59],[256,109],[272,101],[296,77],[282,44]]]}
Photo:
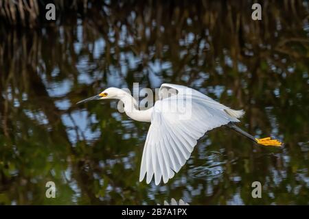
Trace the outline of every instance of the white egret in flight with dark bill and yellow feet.
{"label": "white egret in flight with dark bill and yellow feet", "polygon": [[[167,89],[174,92],[167,96]],[[235,123],[240,122],[238,118],[243,116],[243,110],[231,110],[186,86],[163,83],[159,88],[159,100],[148,110],[139,110],[133,96],[119,88],[107,88],[100,94],[78,103],[101,99],[119,99],[124,103],[124,112],[130,118],[151,123],[141,158],[139,181],[147,175],[146,182],[150,183],[155,175],[156,185],[161,178],[167,183],[189,159],[197,140],[207,131],[222,125],[238,131],[257,144],[282,146],[278,140],[270,137],[254,138],[237,127]],[[184,112],[171,110],[170,106],[177,105],[178,102],[190,103],[185,109],[190,112],[189,116],[183,116]]]}

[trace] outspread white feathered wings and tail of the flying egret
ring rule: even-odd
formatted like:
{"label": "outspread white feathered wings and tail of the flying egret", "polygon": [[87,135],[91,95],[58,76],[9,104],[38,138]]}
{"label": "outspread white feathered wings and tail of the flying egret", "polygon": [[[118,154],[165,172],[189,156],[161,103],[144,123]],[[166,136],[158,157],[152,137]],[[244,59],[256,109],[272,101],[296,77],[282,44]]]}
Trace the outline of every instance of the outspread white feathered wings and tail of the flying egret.
{"label": "outspread white feathered wings and tail of the flying egret", "polygon": [[[172,88],[176,93],[164,96],[164,88]],[[147,183],[155,175],[156,185],[161,178],[167,183],[174,172],[179,172],[205,132],[238,122],[243,114],[185,86],[163,83],[159,96],[152,110],[139,175],[142,181],[147,173]]]}

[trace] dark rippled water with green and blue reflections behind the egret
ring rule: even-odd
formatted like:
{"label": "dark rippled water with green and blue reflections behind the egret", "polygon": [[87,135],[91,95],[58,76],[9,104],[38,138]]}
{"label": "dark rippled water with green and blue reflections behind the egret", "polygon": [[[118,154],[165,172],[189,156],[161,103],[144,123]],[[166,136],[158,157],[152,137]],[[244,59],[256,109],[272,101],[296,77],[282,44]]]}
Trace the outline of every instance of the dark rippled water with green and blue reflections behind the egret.
{"label": "dark rippled water with green and blue reflections behind the egret", "polygon": [[[61,25],[0,26],[0,203],[308,204],[308,3],[265,2],[258,22],[250,1],[201,1],[111,3]],[[149,124],[115,101],[75,104],[133,82],[196,88],[286,146],[257,147],[221,127],[168,184],[139,183]],[[56,198],[45,197],[47,181]],[[262,198],[251,197],[253,181]]]}

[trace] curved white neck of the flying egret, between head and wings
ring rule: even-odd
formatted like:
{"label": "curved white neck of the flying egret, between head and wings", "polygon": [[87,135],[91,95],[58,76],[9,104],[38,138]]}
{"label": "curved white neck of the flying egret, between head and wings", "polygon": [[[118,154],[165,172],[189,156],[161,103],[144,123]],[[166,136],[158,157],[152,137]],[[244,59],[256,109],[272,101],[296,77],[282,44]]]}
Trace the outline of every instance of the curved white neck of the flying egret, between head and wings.
{"label": "curved white neck of the flying egret, between head and wings", "polygon": [[123,95],[120,100],[124,103],[124,112],[127,116],[139,122],[150,123],[152,107],[148,110],[138,110],[138,103],[130,94]]}

